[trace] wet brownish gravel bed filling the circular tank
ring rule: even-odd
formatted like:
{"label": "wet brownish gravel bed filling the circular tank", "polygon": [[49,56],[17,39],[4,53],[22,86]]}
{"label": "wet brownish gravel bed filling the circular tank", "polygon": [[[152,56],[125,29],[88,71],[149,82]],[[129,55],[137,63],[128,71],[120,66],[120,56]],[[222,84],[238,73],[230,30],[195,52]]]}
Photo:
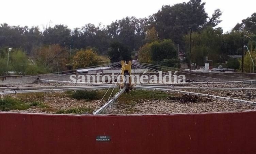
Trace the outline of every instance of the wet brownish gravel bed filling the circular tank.
{"label": "wet brownish gravel bed filling the circular tank", "polygon": [[[75,84],[84,86],[84,84]],[[17,85],[11,85],[17,86]],[[67,83],[36,83],[23,84],[19,86],[74,86]],[[200,85],[184,85],[192,87],[226,87],[226,88],[256,88],[256,85],[231,83],[231,84],[200,84]],[[188,91],[182,89],[182,91]],[[244,99],[256,102],[256,91],[253,90],[189,90],[198,93],[213,94],[230,98]],[[247,93],[251,96],[247,97]],[[14,95],[15,96],[15,95]],[[86,101],[76,100],[69,97],[46,96],[43,103],[49,107],[46,109],[31,107],[28,110],[11,110],[10,112],[31,112],[31,113],[56,113],[58,110],[67,110],[72,108],[91,108],[96,109],[100,100]],[[101,107],[105,102],[101,102],[98,106]],[[230,111],[246,111],[256,110],[254,104],[246,104],[241,102],[233,102],[226,100],[217,100],[212,98],[202,98],[198,96],[178,94],[175,97],[170,97],[165,100],[148,100],[142,99],[136,102],[118,102],[116,101],[104,112],[105,114],[171,114],[171,113],[212,113],[212,112],[230,112]],[[86,113],[84,113],[86,114]]]}

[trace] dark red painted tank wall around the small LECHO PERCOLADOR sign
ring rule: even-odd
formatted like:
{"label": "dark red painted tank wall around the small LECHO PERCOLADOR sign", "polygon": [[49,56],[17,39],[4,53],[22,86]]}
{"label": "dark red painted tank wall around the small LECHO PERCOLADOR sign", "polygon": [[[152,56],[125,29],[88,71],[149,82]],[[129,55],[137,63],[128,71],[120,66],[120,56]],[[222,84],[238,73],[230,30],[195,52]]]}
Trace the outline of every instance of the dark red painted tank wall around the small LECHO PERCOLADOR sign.
{"label": "dark red painted tank wall around the small LECHO PERCOLADOR sign", "polygon": [[[0,154],[255,154],[256,112],[72,116],[0,113]],[[97,142],[96,136],[111,136]]]}

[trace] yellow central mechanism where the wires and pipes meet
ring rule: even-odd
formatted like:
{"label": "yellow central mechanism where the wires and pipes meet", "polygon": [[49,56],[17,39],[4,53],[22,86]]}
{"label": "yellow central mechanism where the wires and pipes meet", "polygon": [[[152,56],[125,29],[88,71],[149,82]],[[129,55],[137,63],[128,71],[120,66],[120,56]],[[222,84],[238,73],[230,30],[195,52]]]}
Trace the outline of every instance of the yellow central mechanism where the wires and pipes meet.
{"label": "yellow central mechanism where the wires and pipes meet", "polygon": [[[122,60],[121,61],[121,64],[122,64],[122,82],[121,82],[121,87],[124,87],[125,85],[125,88],[126,89],[131,89],[131,61],[129,60]],[[129,75],[129,77],[127,77]],[[129,78],[129,79],[128,79]],[[126,79],[126,80],[125,80]],[[124,82],[125,80],[125,82]],[[127,80],[129,80],[129,82],[127,83]]]}

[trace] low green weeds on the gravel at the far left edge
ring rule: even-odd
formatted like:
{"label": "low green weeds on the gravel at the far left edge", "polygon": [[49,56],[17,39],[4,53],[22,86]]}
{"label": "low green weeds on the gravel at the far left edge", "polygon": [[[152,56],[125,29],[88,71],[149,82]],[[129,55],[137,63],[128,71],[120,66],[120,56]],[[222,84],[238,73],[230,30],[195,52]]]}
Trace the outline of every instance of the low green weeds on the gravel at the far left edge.
{"label": "low green weeds on the gravel at the far left edge", "polygon": [[0,98],[0,110],[9,111],[9,110],[27,110],[30,108],[28,103],[24,103],[17,99],[13,99],[11,96],[6,96]]}

